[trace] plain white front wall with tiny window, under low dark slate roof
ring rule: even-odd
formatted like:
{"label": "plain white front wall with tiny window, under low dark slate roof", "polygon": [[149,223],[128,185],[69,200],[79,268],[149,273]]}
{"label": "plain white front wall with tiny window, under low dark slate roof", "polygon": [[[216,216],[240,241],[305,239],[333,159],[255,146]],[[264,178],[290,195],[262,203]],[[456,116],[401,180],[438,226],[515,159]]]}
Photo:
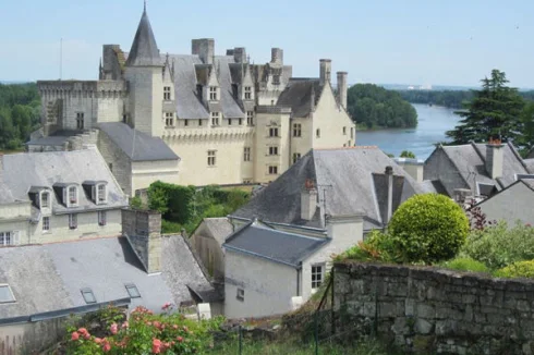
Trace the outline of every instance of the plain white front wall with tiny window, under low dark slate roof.
{"label": "plain white front wall with tiny window, under low dark slate roof", "polygon": [[[224,316],[230,319],[281,315],[296,296],[296,269],[266,259],[226,250]],[[238,287],[244,301],[236,298]]]}

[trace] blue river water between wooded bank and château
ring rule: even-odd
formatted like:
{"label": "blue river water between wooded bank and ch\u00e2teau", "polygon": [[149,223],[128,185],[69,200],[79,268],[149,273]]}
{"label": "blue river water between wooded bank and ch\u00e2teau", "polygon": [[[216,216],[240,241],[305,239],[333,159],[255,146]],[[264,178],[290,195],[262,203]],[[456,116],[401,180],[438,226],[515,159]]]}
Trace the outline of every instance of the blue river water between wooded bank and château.
{"label": "blue river water between wooded bank and ch\u00e2teau", "polygon": [[434,151],[434,144],[447,140],[445,132],[452,130],[461,119],[453,109],[439,106],[412,103],[417,111],[417,127],[378,131],[359,131],[356,145],[378,146],[383,151],[398,157],[410,150],[417,159],[426,159]]}

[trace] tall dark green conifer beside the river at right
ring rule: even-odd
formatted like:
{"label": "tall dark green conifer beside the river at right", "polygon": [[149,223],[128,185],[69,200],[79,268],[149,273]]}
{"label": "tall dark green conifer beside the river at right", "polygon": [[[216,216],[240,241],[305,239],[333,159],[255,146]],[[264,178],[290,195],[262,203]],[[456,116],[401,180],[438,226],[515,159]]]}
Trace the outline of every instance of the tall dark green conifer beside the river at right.
{"label": "tall dark green conifer beside the river at right", "polygon": [[487,142],[499,138],[511,142],[519,135],[519,117],[524,100],[518,89],[508,87],[505,72],[491,71],[491,76],[482,81],[482,89],[473,91],[473,100],[465,111],[457,112],[463,120],[454,130],[448,131],[450,144]]}

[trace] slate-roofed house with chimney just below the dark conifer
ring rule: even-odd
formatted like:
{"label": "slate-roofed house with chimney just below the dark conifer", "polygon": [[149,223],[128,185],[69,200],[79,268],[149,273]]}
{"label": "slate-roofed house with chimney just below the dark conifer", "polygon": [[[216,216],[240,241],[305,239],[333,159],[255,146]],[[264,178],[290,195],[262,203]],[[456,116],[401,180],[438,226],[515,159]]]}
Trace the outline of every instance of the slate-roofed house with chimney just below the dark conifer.
{"label": "slate-roofed house with chimney just below the dark conifer", "polygon": [[490,197],[533,173],[511,143],[440,145],[424,166],[424,179],[441,185],[456,199]]}

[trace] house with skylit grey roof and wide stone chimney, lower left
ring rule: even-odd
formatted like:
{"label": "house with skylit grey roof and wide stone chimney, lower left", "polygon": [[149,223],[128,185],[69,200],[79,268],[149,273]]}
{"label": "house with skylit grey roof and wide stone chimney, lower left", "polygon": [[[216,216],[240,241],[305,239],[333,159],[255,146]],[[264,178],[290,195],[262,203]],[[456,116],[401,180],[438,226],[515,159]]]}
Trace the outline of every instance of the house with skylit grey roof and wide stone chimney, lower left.
{"label": "house with skylit grey roof and wide stone chimney, lower left", "polygon": [[0,350],[38,352],[64,336],[70,315],[108,304],[160,313],[208,303],[221,314],[221,292],[181,235],[160,234],[159,213],[122,219],[123,236],[0,249]]}

